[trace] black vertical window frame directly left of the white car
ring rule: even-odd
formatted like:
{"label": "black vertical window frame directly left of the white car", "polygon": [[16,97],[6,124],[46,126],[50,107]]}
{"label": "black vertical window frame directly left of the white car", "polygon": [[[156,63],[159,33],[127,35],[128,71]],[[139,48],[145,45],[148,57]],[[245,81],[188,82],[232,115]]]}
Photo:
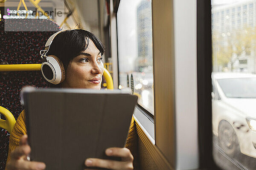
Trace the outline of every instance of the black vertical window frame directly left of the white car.
{"label": "black vertical window frame directly left of the white car", "polygon": [[[198,139],[200,169],[221,170],[212,155],[211,1],[197,1]],[[208,56],[208,57],[206,57]],[[208,114],[206,114],[208,113]]]}

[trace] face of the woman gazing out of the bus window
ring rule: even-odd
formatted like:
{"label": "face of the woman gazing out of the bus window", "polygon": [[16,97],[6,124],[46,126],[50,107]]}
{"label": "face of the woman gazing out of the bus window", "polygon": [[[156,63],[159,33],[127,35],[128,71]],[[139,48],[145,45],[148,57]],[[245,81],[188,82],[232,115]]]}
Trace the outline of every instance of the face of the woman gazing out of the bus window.
{"label": "face of the woman gazing out of the bus window", "polygon": [[66,78],[62,88],[94,88],[100,89],[104,66],[102,56],[92,40],[88,48],[73,58],[66,70]]}

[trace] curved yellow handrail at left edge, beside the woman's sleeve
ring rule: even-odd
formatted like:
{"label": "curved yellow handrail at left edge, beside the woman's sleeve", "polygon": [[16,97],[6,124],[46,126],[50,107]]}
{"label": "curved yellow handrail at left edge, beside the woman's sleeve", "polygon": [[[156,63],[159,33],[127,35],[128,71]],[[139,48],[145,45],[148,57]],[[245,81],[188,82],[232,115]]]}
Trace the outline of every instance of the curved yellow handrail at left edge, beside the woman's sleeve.
{"label": "curved yellow handrail at left edge, beside the woman's sleeve", "polygon": [[3,116],[6,118],[6,120],[0,119],[0,127],[11,133],[16,122],[14,116],[10,111],[8,111],[6,108],[3,108],[2,106],[0,106],[0,113],[3,114]]}

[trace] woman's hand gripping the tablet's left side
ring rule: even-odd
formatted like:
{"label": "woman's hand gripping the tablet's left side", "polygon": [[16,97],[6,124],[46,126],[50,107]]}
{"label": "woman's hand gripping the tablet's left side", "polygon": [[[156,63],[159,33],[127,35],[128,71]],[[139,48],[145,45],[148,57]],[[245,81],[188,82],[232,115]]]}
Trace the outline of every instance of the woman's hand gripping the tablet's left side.
{"label": "woman's hand gripping the tablet's left side", "polygon": [[30,146],[27,144],[28,136],[20,138],[20,146],[12,151],[10,161],[6,164],[7,170],[44,170],[43,162],[28,161],[27,155],[30,153]]}

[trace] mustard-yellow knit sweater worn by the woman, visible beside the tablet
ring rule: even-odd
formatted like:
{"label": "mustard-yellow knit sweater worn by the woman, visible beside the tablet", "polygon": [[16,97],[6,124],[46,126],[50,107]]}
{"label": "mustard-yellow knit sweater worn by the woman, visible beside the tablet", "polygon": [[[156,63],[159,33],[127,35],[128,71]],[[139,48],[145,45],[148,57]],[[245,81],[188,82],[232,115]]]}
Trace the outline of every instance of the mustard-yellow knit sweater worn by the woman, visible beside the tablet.
{"label": "mustard-yellow knit sweater worn by the woman, visible beside the tablet", "polygon": [[[25,111],[23,110],[20,113],[20,116],[18,117],[14,128],[12,130],[12,133],[10,135],[9,139],[9,153],[6,163],[10,159],[10,153],[12,150],[14,150],[17,146],[20,144],[20,137],[27,134],[26,131],[26,125],[25,125]],[[125,147],[129,148],[131,150],[131,153],[134,155],[134,162],[135,158],[137,157],[137,137],[136,137],[136,130],[134,126],[134,119],[131,120],[131,125],[128,133],[128,137],[126,139]],[[134,164],[134,169],[136,167],[136,164]],[[7,170],[7,169],[6,169]]]}

